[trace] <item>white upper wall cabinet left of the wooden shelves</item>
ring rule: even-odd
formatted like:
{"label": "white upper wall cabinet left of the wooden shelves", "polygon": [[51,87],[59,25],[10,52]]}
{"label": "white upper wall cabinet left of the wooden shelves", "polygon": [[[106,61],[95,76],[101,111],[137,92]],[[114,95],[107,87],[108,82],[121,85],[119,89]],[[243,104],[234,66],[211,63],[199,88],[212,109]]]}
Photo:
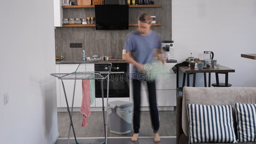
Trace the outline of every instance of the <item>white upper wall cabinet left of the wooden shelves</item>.
{"label": "white upper wall cabinet left of the wooden shelves", "polygon": [[62,26],[63,9],[62,0],[53,0],[53,11],[54,11],[54,27]]}

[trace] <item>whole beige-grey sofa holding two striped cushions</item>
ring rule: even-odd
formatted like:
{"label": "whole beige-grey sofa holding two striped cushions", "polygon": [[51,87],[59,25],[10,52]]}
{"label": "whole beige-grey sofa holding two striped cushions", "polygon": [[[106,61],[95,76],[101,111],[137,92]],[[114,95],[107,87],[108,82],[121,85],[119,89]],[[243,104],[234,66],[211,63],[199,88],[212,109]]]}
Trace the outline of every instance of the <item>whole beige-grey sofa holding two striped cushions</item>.
{"label": "whole beige-grey sofa holding two striped cushions", "polygon": [[[187,104],[232,105],[234,128],[237,138],[237,123],[234,103],[256,103],[256,88],[253,87],[184,87],[183,96],[177,98],[176,142],[188,144]],[[240,143],[240,142],[238,142]],[[214,143],[211,143],[214,144]],[[221,144],[221,143],[220,143]],[[256,142],[246,142],[256,144]]]}

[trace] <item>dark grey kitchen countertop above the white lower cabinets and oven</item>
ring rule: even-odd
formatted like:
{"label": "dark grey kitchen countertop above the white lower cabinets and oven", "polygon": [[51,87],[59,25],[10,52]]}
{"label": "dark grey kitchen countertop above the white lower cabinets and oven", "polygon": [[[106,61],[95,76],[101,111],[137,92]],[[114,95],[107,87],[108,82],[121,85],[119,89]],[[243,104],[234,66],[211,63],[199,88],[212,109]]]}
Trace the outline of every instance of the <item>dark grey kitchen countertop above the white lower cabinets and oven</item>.
{"label": "dark grey kitchen countertop above the white lower cabinets and oven", "polygon": [[[176,63],[177,60],[168,60],[167,63]],[[128,63],[128,61],[83,61],[82,59],[64,59],[56,61],[56,64],[80,64],[80,63]]]}

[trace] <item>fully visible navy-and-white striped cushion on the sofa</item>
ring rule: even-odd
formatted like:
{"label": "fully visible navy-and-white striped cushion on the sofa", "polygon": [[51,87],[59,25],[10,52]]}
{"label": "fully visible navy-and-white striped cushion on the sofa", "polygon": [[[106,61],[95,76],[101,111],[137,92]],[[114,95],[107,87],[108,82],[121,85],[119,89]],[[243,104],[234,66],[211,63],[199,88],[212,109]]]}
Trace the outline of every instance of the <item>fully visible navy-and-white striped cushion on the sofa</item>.
{"label": "fully visible navy-and-white striped cushion on the sofa", "polygon": [[232,106],[188,104],[189,143],[236,143]]}

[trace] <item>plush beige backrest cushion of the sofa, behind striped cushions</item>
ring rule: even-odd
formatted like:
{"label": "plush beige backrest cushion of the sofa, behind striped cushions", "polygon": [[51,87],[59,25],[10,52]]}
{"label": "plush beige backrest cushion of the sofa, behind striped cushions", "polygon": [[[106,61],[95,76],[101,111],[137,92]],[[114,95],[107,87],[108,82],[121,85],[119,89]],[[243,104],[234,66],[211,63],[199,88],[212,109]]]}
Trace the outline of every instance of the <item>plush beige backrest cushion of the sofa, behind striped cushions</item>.
{"label": "plush beige backrest cushion of the sofa, behind striped cushions", "polygon": [[[232,105],[234,103],[256,103],[256,88],[253,87],[184,87],[182,100],[182,129],[188,136],[187,104]],[[236,127],[236,126],[235,126]]]}

